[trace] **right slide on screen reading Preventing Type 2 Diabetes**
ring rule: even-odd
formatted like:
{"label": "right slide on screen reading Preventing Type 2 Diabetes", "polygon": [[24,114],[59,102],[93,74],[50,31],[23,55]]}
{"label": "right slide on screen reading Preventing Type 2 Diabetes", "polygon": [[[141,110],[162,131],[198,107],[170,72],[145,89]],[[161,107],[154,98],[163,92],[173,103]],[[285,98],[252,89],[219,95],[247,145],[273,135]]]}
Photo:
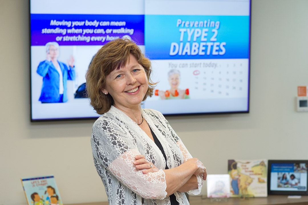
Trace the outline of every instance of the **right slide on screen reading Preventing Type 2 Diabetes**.
{"label": "right slide on screen reading Preventing Type 2 Diabetes", "polygon": [[[164,5],[164,6],[161,6]],[[249,1],[145,1],[145,53],[163,114],[248,112]]]}

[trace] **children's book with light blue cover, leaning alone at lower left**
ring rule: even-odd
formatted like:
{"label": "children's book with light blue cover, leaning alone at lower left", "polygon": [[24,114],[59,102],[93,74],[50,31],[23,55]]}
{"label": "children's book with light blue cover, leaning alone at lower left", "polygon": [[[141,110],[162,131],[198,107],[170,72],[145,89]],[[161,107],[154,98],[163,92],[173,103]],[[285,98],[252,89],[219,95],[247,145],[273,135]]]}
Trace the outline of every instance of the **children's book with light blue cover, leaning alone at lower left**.
{"label": "children's book with light blue cover, leaning alone at lower left", "polygon": [[28,205],[63,205],[54,176],[21,179]]}

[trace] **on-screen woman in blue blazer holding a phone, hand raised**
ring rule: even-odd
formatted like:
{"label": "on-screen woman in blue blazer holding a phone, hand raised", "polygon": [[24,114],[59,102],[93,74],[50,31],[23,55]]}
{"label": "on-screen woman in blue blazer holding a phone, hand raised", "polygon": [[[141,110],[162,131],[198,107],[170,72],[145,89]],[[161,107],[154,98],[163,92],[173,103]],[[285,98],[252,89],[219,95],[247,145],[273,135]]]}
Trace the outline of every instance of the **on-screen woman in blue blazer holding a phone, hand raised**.
{"label": "on-screen woman in blue blazer holding a phone, hand raised", "polygon": [[39,63],[37,73],[43,77],[39,101],[42,103],[67,102],[67,80],[75,80],[74,57],[67,60],[68,66],[58,61],[59,44],[48,42],[45,45],[46,59]]}

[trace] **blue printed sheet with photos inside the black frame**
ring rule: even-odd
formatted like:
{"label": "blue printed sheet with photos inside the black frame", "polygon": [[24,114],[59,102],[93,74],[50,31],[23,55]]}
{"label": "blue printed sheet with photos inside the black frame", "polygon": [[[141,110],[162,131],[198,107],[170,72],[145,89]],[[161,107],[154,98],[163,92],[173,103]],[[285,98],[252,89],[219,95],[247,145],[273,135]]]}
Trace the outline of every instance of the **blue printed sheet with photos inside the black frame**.
{"label": "blue printed sheet with photos inside the black frame", "polygon": [[273,163],[270,180],[271,191],[307,191],[307,164]]}

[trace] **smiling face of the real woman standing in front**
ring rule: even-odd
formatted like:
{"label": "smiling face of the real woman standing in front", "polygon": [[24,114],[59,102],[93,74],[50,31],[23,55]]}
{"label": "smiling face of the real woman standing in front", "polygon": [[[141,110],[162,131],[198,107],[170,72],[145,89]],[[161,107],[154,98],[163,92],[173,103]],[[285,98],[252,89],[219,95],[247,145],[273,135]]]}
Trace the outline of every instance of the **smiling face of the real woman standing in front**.
{"label": "smiling face of the real woman standing in front", "polygon": [[103,93],[109,93],[116,108],[140,105],[148,90],[148,78],[142,65],[130,54],[130,61],[106,76]]}

